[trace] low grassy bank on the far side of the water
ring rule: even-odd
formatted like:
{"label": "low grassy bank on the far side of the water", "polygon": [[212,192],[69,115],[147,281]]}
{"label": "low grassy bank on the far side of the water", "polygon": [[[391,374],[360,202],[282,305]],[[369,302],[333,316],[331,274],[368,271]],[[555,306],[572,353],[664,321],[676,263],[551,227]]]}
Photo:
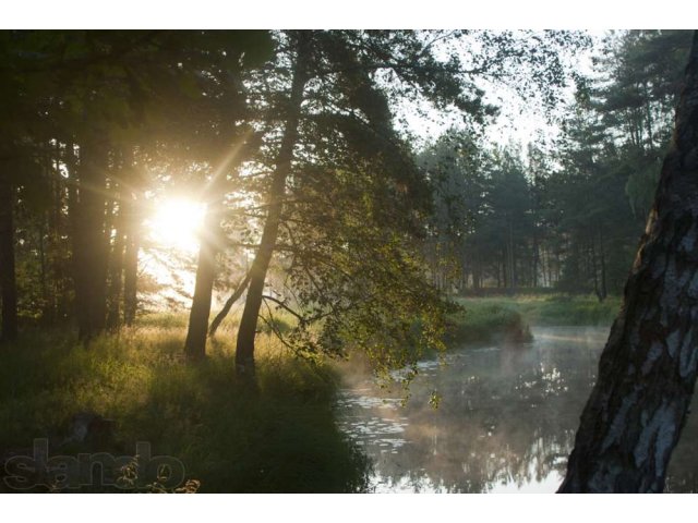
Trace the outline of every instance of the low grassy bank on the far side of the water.
{"label": "low grassy bank on the far side of the water", "polygon": [[465,311],[448,316],[452,342],[489,342],[496,339],[522,341],[534,325],[611,325],[621,299],[600,303],[595,296],[519,295],[514,297],[467,297],[456,302]]}

